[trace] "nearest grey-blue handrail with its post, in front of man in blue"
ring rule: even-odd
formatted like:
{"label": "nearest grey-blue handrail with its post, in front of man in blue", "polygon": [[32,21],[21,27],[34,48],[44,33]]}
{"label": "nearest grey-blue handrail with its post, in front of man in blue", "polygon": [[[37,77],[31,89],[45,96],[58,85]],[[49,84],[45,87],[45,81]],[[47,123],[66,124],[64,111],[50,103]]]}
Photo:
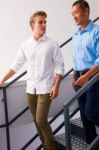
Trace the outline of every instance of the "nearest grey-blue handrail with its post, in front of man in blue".
{"label": "nearest grey-blue handrail with its post, in front of man in blue", "polygon": [[70,126],[70,115],[69,107],[77,101],[77,99],[87,91],[95,82],[99,80],[99,72],[96,73],[67,103],[64,104],[64,120],[65,120],[65,137],[66,137],[66,150],[72,150],[71,148],[71,126]]}

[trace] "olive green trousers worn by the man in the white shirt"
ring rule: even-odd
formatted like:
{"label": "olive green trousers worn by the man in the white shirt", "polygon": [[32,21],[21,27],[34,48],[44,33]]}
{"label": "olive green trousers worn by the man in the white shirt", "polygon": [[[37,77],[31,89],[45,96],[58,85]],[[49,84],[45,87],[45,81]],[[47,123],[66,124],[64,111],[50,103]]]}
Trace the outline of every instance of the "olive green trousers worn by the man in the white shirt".
{"label": "olive green trousers worn by the man in the white shirt", "polygon": [[47,121],[52,100],[48,94],[27,94],[30,112],[44,150],[55,150],[52,129]]}

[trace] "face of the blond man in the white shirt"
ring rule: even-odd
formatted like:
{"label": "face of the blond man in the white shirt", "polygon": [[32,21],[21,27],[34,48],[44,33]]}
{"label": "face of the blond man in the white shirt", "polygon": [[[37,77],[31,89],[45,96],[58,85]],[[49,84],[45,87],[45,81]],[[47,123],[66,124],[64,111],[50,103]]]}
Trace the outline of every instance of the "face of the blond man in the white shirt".
{"label": "face of the blond man in the white shirt", "polygon": [[36,16],[32,29],[36,35],[42,36],[46,32],[46,18],[44,16]]}

